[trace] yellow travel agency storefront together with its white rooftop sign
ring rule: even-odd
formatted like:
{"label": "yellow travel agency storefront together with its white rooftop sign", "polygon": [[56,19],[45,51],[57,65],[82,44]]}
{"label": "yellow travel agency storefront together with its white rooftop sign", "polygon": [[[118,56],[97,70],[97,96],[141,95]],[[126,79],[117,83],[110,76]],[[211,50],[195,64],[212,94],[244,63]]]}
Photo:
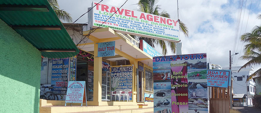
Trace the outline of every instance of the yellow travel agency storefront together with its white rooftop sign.
{"label": "yellow travel agency storefront together with its white rooftop sign", "polygon": [[[74,24],[63,23],[80,50],[79,54],[72,58],[58,60],[60,64],[56,63],[57,59],[43,59],[43,62],[48,63],[42,63],[42,66],[47,66],[42,70],[47,69],[47,71],[43,71],[42,75],[46,75],[41,79],[45,84],[50,85],[50,92],[55,93],[55,100],[41,100],[41,106],[64,105],[68,81],[85,81],[87,105],[102,106],[102,108],[48,107],[55,109],[55,112],[110,110],[115,106],[120,107],[115,109],[148,107],[147,112],[152,112],[152,57],[162,55],[143,40],[139,43],[128,34],[178,42],[179,38],[176,35],[179,31],[178,21],[124,8],[117,11],[115,9],[119,8],[116,6],[98,4],[98,2],[93,2],[92,6],[95,4],[97,5],[88,13],[87,26],[82,27],[83,24],[78,24],[77,27],[81,27],[75,28]],[[86,30],[82,32],[79,30],[82,36],[74,36],[75,29]],[[80,41],[82,39],[84,40]],[[57,74],[56,72],[60,71],[53,71],[57,69],[68,71]],[[120,91],[123,91],[127,97],[115,96]],[[44,111],[48,107],[41,109]]]}

